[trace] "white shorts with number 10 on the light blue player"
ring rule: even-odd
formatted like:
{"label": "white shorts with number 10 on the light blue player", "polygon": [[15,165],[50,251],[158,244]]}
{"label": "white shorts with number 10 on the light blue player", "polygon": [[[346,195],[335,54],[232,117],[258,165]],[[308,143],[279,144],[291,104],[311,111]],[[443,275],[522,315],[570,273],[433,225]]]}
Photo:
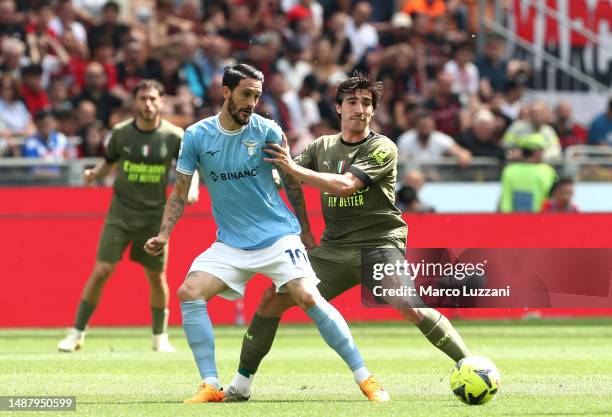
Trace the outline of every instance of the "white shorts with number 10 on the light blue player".
{"label": "white shorts with number 10 on the light blue player", "polygon": [[194,259],[189,268],[192,271],[206,272],[223,281],[229,289],[218,295],[227,300],[242,298],[247,282],[256,273],[270,277],[276,292],[287,292],[284,285],[297,278],[319,283],[298,235],[283,236],[272,246],[254,250],[215,242]]}

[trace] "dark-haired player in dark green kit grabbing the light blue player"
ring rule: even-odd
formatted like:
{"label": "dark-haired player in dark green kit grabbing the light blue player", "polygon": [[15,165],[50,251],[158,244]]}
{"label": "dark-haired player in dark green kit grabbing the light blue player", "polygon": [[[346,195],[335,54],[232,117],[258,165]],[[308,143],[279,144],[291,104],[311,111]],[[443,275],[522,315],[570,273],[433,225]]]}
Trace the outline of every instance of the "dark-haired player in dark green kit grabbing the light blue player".
{"label": "dark-haired player in dark green kit grabbing the light blue player", "polygon": [[[295,160],[286,147],[270,145],[266,159],[285,173],[321,191],[325,232],[314,247],[304,238],[308,257],[321,280],[321,295],[331,300],[361,283],[361,249],[391,248],[404,259],[407,226],[395,207],[397,147],[370,130],[382,84],[363,75],[343,81],[336,91],[341,132],[322,136]],[[397,250],[397,253],[395,253]],[[282,313],[294,305],[290,297],[268,289],[243,338],[238,373],[225,389],[226,402],[246,401],[263,357],[269,352]],[[469,355],[461,336],[440,312],[396,306],[425,337],[452,360]]]}

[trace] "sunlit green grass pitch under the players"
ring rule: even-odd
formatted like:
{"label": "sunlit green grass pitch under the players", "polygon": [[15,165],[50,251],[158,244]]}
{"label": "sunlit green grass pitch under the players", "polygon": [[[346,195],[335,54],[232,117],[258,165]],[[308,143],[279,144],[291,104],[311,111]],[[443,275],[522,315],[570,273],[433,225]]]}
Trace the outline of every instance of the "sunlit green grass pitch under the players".
{"label": "sunlit green grass pitch under the players", "polygon": [[[85,349],[55,350],[63,329],[0,330],[0,395],[75,395],[54,416],[612,416],[612,320],[456,322],[474,354],[498,366],[502,387],[470,407],[449,388],[452,363],[403,323],[353,324],[370,370],[390,392],[368,403],[314,326],[282,325],[248,403],[187,405],[199,383],[180,328],[175,354],[150,350],[146,328],[92,328]],[[232,378],[244,328],[215,328],[222,382]]]}

